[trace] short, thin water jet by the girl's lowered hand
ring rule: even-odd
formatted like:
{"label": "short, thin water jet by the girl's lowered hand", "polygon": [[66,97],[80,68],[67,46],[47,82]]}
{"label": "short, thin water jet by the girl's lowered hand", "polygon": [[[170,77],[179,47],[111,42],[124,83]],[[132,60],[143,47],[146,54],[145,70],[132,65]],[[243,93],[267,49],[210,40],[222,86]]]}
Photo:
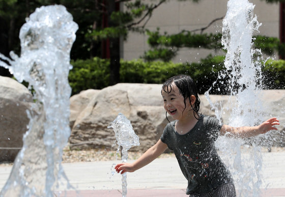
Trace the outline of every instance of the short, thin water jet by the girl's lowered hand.
{"label": "short, thin water jet by the girl's lowered hand", "polygon": [[[132,146],[139,146],[139,137],[134,133],[131,122],[120,113],[108,128],[113,128],[119,145],[118,151],[120,146],[122,147],[122,162],[127,162],[128,150]],[[123,197],[127,195],[127,173],[122,175],[122,195]]]}

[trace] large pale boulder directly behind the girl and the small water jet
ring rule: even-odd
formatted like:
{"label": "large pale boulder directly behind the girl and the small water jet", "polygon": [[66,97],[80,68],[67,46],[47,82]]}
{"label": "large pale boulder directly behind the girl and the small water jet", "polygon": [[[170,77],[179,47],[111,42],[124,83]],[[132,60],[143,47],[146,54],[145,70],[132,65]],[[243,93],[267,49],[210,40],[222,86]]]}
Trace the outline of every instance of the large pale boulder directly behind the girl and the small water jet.
{"label": "large pale boulder directly behind the girl and the small water jet", "polygon": [[115,133],[107,126],[122,113],[140,137],[141,146],[133,150],[146,150],[156,142],[167,122],[160,91],[161,85],[137,83],[120,83],[101,90],[77,117],[70,136],[71,146],[112,147]]}

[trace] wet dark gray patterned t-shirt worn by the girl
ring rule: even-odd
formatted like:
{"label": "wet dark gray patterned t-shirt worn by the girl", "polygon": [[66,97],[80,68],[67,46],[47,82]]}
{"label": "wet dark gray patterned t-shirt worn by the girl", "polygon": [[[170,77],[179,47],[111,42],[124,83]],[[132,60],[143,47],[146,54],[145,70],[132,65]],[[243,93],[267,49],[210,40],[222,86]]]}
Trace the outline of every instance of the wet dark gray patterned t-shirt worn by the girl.
{"label": "wet dark gray patterned t-shirt worn by the girl", "polygon": [[183,135],[176,132],[176,122],[166,125],[160,139],[174,151],[181,171],[188,180],[186,194],[207,193],[232,181],[214,145],[222,127],[219,120],[201,115],[195,126]]}

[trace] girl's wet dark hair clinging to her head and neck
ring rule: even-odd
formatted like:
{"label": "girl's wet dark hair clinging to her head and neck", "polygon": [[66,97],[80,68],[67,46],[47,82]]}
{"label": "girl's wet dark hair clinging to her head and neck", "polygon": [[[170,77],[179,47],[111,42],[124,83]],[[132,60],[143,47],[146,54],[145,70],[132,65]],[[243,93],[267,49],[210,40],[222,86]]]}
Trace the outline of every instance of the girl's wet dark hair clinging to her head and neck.
{"label": "girl's wet dark hair clinging to her head and neck", "polygon": [[[173,90],[172,83],[174,83],[177,86],[177,88],[179,89],[179,93],[184,97],[185,108],[186,108],[186,99],[189,98],[189,101],[191,101],[190,99],[191,95],[194,95],[196,97],[194,106],[192,106],[191,102],[190,102],[190,105],[193,109],[194,117],[198,120],[201,115],[200,113],[198,113],[200,109],[201,101],[200,101],[200,98],[198,97],[198,91],[197,91],[194,80],[189,75],[185,75],[185,74],[176,75],[176,76],[173,76],[167,79],[163,83],[161,91],[164,91],[169,94]],[[198,118],[196,117],[195,112],[198,115]],[[166,112],[166,115],[167,115],[167,112]],[[166,116],[166,119],[167,119],[167,116]]]}

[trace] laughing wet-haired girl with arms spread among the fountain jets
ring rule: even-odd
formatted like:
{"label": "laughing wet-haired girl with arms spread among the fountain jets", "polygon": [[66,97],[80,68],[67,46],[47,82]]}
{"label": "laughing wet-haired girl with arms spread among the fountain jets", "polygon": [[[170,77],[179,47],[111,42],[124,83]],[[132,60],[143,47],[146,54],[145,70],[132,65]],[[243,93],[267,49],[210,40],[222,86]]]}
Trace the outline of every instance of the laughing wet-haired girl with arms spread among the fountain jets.
{"label": "laughing wet-haired girl with arms spread among the fountain jets", "polygon": [[166,148],[173,150],[185,178],[188,180],[186,194],[190,196],[236,196],[230,172],[221,161],[214,146],[218,135],[230,134],[250,137],[279,125],[271,118],[259,126],[231,127],[216,118],[198,112],[200,99],[193,79],[177,75],[162,85],[164,109],[175,120],[164,128],[158,142],[133,163],[115,166],[118,173],[134,172],[149,164]]}

